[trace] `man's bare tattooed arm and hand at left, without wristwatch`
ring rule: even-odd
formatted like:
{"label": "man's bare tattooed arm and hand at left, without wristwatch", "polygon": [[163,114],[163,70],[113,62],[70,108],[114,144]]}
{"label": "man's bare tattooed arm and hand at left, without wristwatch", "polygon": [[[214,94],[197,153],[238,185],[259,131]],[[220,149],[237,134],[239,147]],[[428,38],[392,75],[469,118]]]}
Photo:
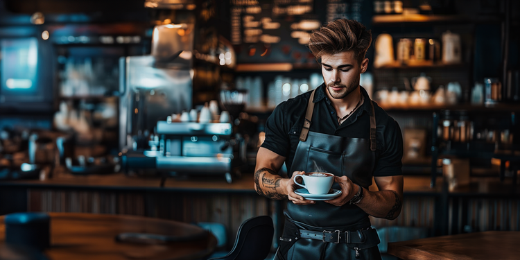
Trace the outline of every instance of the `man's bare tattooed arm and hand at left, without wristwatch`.
{"label": "man's bare tattooed arm and hand at left, without wristwatch", "polygon": [[[257,153],[257,166],[254,169],[254,190],[261,196],[273,200],[283,200],[288,198],[295,204],[313,204],[311,200],[304,200],[302,196],[294,193],[295,184],[293,179],[284,178],[278,175],[281,165],[285,162],[285,157],[278,155],[266,148],[259,148]],[[302,174],[295,172],[293,174]]]}

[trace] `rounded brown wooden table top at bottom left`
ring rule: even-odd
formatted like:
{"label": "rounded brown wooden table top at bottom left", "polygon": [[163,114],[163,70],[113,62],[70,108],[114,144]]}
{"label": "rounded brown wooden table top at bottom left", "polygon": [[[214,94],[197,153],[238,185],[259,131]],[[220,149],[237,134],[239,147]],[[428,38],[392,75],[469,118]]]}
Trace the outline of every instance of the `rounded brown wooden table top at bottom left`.
{"label": "rounded brown wooden table top at bottom left", "polygon": [[[49,213],[51,247],[49,259],[201,259],[216,247],[216,238],[196,225],[173,220],[110,214]],[[0,245],[5,241],[4,216],[0,216]],[[189,236],[193,241],[128,243],[115,240],[123,232]]]}

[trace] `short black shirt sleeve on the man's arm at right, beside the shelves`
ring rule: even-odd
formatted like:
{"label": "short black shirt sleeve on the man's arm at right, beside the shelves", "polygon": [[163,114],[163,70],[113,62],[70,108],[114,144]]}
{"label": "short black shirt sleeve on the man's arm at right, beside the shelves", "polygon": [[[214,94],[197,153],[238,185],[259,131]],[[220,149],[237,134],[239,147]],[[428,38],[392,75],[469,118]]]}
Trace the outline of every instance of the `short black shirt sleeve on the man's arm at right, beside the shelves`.
{"label": "short black shirt sleeve on the man's arm at right, beside the shelves", "polygon": [[[379,127],[379,125],[378,125]],[[403,136],[399,124],[389,117],[388,123],[383,126],[383,145],[376,157],[374,177],[403,175]]]}

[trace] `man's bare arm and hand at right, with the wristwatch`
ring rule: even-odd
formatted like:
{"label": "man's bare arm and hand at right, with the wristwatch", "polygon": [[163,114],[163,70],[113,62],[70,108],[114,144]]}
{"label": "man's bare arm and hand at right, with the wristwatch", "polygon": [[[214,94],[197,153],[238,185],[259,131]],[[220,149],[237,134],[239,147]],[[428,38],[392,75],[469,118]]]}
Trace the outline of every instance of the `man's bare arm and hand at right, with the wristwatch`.
{"label": "man's bare arm and hand at right, with the wristwatch", "polygon": [[[358,192],[358,185],[354,184],[348,177],[336,176],[336,182],[340,184],[343,191],[341,196],[326,202],[341,206],[349,202]],[[363,189],[363,199],[356,204],[370,216],[376,218],[395,219],[401,213],[403,201],[403,176],[374,177],[379,191]]]}

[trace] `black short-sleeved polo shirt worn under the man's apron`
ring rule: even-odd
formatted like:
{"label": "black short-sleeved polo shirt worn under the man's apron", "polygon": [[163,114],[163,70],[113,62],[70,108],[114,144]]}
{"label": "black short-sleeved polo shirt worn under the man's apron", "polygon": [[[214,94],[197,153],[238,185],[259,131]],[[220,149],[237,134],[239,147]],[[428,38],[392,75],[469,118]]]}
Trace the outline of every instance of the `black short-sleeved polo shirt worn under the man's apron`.
{"label": "black short-sleeved polo shirt worn under the man's apron", "polygon": [[[331,104],[322,84],[314,94],[314,112],[311,123],[311,132],[320,132],[340,137],[370,139],[370,98],[360,87],[365,102],[343,121],[338,124],[336,110]],[[287,170],[291,171],[293,158],[300,141],[300,132],[305,119],[307,103],[311,92],[307,92],[280,103],[266,122],[266,140],[261,147],[272,150],[278,155],[286,157]],[[374,176],[402,175],[401,158],[403,157],[403,137],[397,122],[374,102],[376,114],[376,165]]]}

